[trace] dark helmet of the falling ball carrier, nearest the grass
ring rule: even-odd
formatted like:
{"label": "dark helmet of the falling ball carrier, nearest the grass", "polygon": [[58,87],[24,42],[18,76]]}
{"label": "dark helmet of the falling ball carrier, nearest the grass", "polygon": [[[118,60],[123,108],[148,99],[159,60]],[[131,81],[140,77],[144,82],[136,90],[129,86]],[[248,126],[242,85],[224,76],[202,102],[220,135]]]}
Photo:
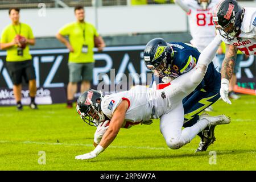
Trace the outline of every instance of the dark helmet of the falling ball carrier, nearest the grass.
{"label": "dark helmet of the falling ball carrier, nearest the grass", "polygon": [[76,110],[82,120],[90,126],[98,126],[105,121],[105,115],[101,110],[101,92],[87,90],[77,99]]}

